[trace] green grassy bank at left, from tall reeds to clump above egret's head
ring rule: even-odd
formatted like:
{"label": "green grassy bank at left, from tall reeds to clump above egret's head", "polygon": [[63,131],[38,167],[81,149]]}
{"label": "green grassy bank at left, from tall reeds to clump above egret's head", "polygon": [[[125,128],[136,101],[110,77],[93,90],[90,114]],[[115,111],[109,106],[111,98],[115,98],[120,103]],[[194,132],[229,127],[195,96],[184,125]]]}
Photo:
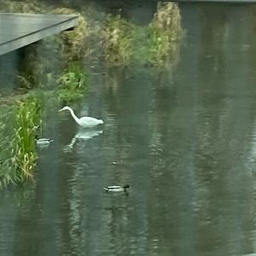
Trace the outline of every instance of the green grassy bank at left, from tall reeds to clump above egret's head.
{"label": "green grassy bank at left, from tall reeds to clump above egret's head", "polygon": [[[77,65],[61,73],[55,90],[31,90],[10,98],[0,110],[0,187],[33,179],[37,163],[36,138],[46,120],[46,108],[60,108],[85,95],[88,74]],[[20,98],[18,100],[18,98]]]}

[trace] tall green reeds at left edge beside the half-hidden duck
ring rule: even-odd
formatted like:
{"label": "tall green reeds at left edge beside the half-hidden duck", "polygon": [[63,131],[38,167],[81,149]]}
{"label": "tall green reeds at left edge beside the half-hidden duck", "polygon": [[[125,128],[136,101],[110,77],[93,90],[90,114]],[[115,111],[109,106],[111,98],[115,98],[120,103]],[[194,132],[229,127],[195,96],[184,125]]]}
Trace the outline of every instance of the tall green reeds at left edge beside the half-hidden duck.
{"label": "tall green reeds at left edge beside the half-hidden duck", "polygon": [[41,108],[36,98],[5,108],[0,126],[0,186],[24,183],[33,177],[37,152],[35,137],[41,125]]}

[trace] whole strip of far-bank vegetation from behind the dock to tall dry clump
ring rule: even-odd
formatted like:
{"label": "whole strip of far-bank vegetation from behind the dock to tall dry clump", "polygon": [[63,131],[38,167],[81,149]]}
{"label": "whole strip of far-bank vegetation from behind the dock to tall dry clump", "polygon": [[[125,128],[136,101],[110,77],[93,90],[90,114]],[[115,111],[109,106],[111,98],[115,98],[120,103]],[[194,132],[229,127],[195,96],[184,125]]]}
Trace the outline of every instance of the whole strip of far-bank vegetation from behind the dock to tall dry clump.
{"label": "whole strip of far-bank vegetation from behind the dock to tall dry clump", "polygon": [[[102,25],[95,20],[88,18],[88,11],[84,8],[78,10],[69,8],[55,8],[49,4],[35,0],[24,2],[0,0],[0,7],[6,12],[26,13],[51,13],[78,15],[79,24],[73,31],[62,32],[60,36],[44,40],[43,49],[50,46],[49,51],[54,50],[51,56],[59,59],[61,68],[67,67],[68,61],[84,61],[100,57],[99,50],[102,50],[102,57],[107,66],[129,65],[130,63],[142,63],[162,66],[166,61],[172,61],[172,55],[177,55],[183,29],[181,26],[181,15],[177,3],[160,2],[157,4],[157,11],[151,22],[146,26],[134,25],[119,15],[106,15],[102,18]],[[101,49],[100,49],[101,48]],[[33,51],[33,50],[32,50]],[[50,63],[55,63],[50,58]],[[37,70],[44,73],[49,63],[37,58]],[[47,62],[47,59],[44,58]],[[34,61],[26,61],[34,63]],[[66,67],[65,67],[66,63]],[[28,67],[26,69],[29,77]],[[45,74],[45,73],[44,73]],[[36,77],[38,74],[35,75]],[[35,82],[35,83],[34,83]],[[38,84],[38,81],[32,81]]]}

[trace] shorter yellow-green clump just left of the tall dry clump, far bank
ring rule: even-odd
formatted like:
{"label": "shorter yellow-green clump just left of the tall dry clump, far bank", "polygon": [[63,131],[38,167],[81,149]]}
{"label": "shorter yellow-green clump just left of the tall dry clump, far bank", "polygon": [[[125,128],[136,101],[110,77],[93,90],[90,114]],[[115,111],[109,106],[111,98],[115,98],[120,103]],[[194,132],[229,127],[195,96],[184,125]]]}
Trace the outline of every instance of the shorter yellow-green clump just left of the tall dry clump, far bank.
{"label": "shorter yellow-green clump just left of the tall dry clump, far bank", "polygon": [[134,28],[120,15],[108,15],[103,29],[102,49],[109,64],[124,64],[130,60]]}

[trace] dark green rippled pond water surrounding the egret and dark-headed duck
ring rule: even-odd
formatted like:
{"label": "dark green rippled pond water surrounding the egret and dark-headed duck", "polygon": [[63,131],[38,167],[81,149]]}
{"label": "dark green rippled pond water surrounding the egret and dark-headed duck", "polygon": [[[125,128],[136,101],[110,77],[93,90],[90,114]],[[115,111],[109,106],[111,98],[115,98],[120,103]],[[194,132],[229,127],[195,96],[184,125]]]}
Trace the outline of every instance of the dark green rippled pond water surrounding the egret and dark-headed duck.
{"label": "dark green rippled pond water surrounding the egret and dark-headed duck", "polygon": [[105,125],[49,113],[37,182],[0,196],[1,255],[256,253],[255,7],[181,8],[176,67],[94,77],[76,111]]}

